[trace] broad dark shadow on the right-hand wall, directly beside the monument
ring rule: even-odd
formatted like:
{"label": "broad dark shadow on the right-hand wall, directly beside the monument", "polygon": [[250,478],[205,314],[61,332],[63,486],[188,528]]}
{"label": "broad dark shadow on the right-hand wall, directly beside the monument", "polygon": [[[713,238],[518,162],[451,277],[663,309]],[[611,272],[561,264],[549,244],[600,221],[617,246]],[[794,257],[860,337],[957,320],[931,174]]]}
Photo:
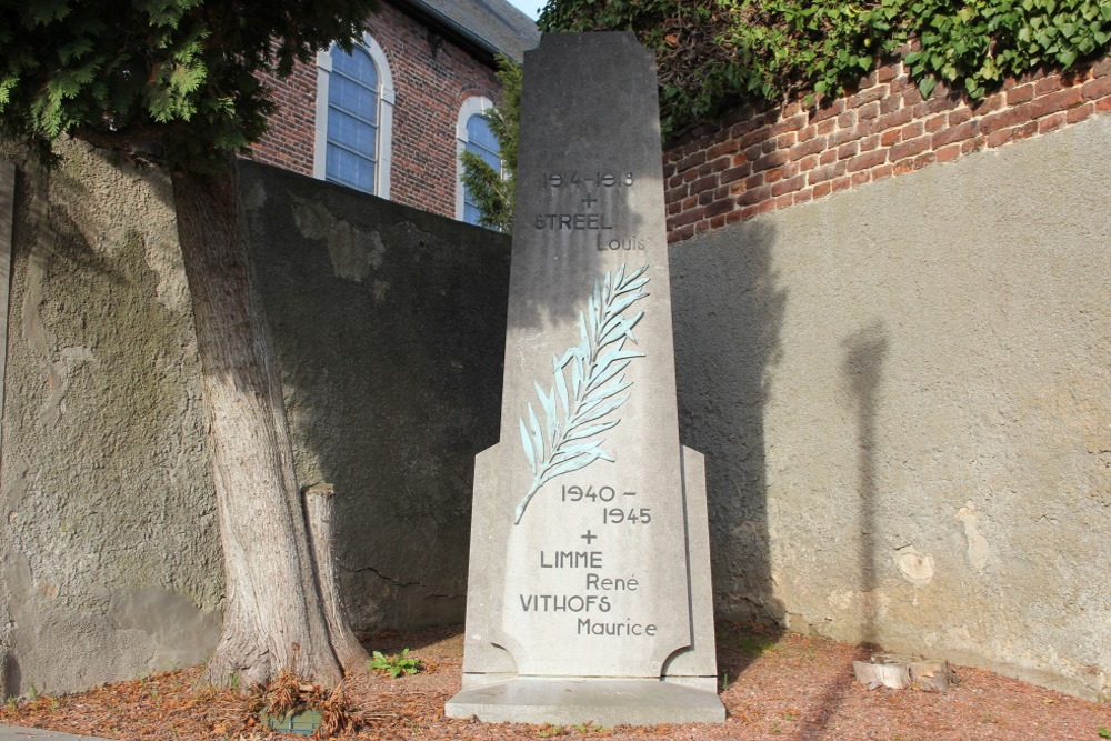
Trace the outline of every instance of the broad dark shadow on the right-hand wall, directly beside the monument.
{"label": "broad dark shadow on the right-hand wall, directly beside the monument", "polygon": [[715,610],[781,624],[763,434],[787,304],[771,269],[773,238],[772,227],[748,222],[677,244],[671,280],[680,435],[705,454]]}

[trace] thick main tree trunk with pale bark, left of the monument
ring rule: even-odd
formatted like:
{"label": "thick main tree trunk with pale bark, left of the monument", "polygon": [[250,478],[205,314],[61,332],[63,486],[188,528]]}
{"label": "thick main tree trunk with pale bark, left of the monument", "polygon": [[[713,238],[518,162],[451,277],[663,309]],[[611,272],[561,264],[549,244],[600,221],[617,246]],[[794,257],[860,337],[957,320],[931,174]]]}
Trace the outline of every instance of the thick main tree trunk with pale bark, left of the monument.
{"label": "thick main tree trunk with pale bark, left of the monument", "polygon": [[227,582],[223,632],[204,679],[246,691],[288,668],[333,685],[341,669],[314,580],[234,164],[176,172],[174,201]]}

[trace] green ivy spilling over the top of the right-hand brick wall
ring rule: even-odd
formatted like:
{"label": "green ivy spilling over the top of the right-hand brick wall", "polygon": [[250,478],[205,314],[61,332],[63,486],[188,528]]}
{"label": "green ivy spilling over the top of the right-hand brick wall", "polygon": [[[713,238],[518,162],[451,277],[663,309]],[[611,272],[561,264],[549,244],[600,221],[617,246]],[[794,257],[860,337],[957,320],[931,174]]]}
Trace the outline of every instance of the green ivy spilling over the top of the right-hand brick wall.
{"label": "green ivy spilling over the top of the right-hand brick wall", "polygon": [[630,30],[657,52],[665,131],[745,101],[837,97],[902,57],[983,98],[1009,76],[1111,48],[1111,0],[549,0],[540,28]]}

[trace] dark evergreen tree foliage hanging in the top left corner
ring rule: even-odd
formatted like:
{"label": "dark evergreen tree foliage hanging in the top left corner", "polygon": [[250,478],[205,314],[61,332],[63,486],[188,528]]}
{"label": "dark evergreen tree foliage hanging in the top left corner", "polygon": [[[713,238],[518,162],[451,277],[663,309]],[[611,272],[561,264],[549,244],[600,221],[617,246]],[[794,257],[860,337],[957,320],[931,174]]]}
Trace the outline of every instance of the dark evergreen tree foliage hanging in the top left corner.
{"label": "dark evergreen tree foliage hanging in the top left corner", "polygon": [[[279,77],[333,39],[350,44],[374,0],[0,0],[0,138],[40,151],[63,133],[176,163],[242,151]],[[348,46],[348,48],[350,48]]]}

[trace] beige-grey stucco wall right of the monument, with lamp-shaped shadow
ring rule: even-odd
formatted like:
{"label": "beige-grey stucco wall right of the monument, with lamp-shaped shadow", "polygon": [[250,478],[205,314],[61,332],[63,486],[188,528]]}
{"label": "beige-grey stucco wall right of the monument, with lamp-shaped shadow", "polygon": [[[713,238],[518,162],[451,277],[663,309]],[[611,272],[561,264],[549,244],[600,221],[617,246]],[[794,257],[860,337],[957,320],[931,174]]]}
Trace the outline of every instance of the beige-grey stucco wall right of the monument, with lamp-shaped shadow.
{"label": "beige-grey stucco wall right of the monument, with lamp-shaped shadow", "polygon": [[720,613],[1111,694],[1111,117],[672,251]]}

